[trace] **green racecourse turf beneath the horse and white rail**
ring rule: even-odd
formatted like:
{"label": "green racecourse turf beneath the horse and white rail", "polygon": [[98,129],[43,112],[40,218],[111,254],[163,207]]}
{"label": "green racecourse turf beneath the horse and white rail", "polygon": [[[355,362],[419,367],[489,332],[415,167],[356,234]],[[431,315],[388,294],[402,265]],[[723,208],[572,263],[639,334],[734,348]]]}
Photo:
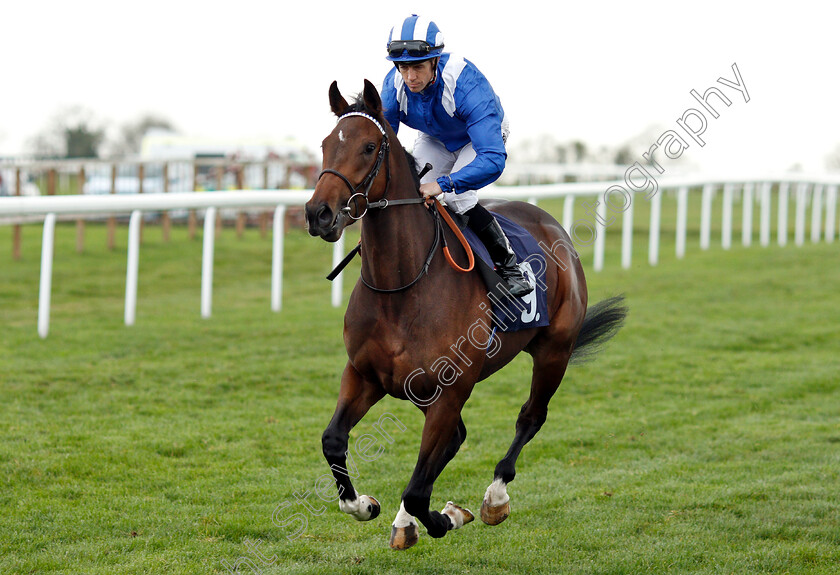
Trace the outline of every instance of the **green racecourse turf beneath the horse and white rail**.
{"label": "green racecourse turf beneath the horse and white rail", "polygon": [[[320,435],[345,362],[343,310],[323,279],[331,246],[289,232],[274,314],[269,240],[225,230],[202,320],[201,243],[181,228],[163,243],[148,227],[128,328],[125,229],[109,252],[104,227],[89,225],[77,254],[75,228],[61,225],[41,340],[40,227],[24,228],[19,262],[0,228],[0,572],[226,573],[223,561],[248,557],[262,573],[836,573],[840,246],[778,248],[774,235],[744,249],[736,228],[731,250],[700,251],[692,223],[677,260],[667,233],[659,266],[646,263],[642,230],[621,270],[610,230],[590,299],[625,293],[631,315],[601,356],[569,370],[519,460],[510,518],[441,540],[421,530],[394,552],[422,416],[390,398],[354,431],[370,433],[385,412],[407,426],[379,459],[357,460],[356,486],[382,516],[298,507],[308,524],[293,541],[272,523],[327,472]],[[529,369],[522,356],[476,388],[436,508],[478,511]],[[265,563],[247,546],[257,540]]]}

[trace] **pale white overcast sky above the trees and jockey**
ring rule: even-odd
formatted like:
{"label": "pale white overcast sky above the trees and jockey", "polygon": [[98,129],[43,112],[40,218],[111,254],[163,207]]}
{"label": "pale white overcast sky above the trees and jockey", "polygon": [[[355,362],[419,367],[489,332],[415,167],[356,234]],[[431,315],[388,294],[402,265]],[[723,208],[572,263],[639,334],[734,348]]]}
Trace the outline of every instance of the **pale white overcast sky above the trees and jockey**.
{"label": "pale white overcast sky above the trees and jockey", "polygon": [[[821,170],[840,145],[840,10],[774,4],[10,1],[0,154],[19,153],[72,105],[111,125],[151,112],[189,135],[294,137],[317,149],[335,121],[330,82],[347,95],[365,78],[381,85],[388,32],[416,12],[488,77],[511,146],[540,134],[591,147],[635,138],[641,155],[700,107],[690,90],[717,86],[732,103],[715,106],[705,146],[687,140],[686,159],[714,171]],[[717,82],[735,81],[733,63],[749,102]]]}

